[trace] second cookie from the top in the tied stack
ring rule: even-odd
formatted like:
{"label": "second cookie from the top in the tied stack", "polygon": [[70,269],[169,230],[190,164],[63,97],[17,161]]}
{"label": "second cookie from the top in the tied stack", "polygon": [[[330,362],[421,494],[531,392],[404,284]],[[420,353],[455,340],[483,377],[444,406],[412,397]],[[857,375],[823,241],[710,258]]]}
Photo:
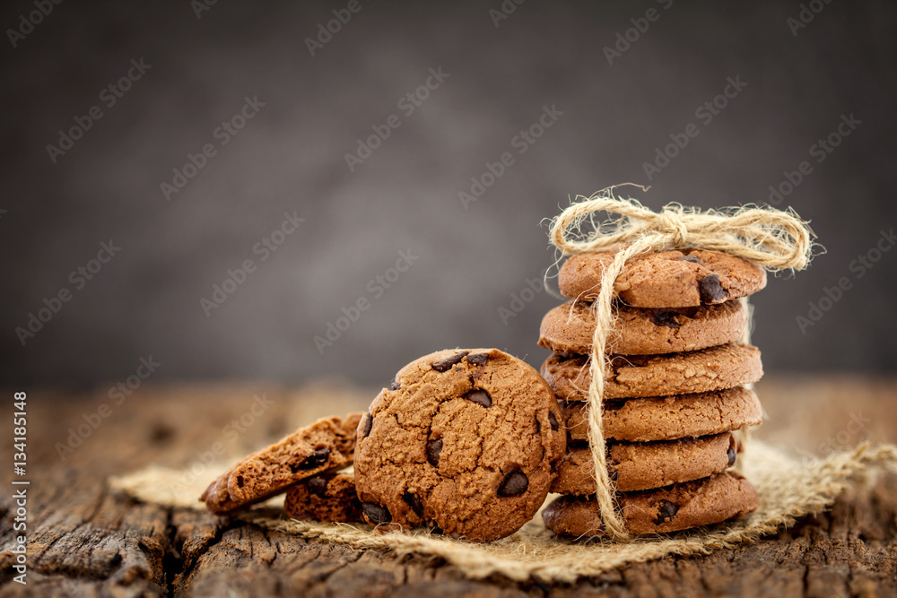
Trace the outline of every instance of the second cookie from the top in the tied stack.
{"label": "second cookie from the top in the tied stack", "polygon": [[[545,314],[539,346],[552,351],[590,353],[595,334],[591,306],[585,301],[568,301]],[[737,341],[746,321],[747,310],[740,301],[696,308],[620,306],[607,337],[607,352],[650,355],[705,349]]]}

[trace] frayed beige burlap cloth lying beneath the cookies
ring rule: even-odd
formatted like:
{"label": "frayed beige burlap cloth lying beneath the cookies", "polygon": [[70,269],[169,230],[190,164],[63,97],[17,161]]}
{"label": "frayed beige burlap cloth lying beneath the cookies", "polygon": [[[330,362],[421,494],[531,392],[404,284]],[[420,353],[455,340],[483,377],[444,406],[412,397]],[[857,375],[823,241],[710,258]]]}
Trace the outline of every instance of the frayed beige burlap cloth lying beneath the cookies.
{"label": "frayed beige burlap cloth lying beneath the cookies", "polygon": [[[706,554],[754,542],[764,534],[794,524],[798,517],[816,514],[832,504],[859,474],[870,467],[897,471],[897,446],[870,446],[824,459],[797,461],[762,442],[753,441],[742,459],[745,475],[760,493],[760,507],[735,522],[693,530],[675,536],[641,537],[632,542],[569,542],[546,530],[541,517],[518,533],[498,542],[473,543],[431,535],[425,531],[375,532],[364,524],[324,524],[270,516],[270,510],[248,510],[235,519],[303,538],[345,544],[360,549],[391,550],[445,559],[468,577],[500,574],[515,581],[573,582],[623,568],[630,563],[668,555]],[[223,470],[222,470],[223,471]],[[203,508],[196,499],[218,473],[171,470],[150,466],[112,478],[113,490],[164,507]]]}

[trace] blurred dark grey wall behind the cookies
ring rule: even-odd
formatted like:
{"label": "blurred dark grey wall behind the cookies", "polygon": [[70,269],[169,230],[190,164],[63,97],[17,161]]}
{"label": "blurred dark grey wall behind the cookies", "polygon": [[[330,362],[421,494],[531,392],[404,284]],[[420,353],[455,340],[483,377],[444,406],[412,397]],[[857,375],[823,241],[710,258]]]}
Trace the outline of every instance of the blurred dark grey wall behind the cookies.
{"label": "blurred dark grey wall behind the cookies", "polygon": [[[893,244],[881,231],[897,221],[897,4],[818,2],[798,29],[797,2],[530,0],[500,18],[499,0],[362,1],[315,56],[306,39],[347,3],[222,0],[197,17],[198,5],[63,3],[13,48],[8,30],[36,9],[4,3],[0,383],[123,380],[152,357],[154,381],[379,385],[455,346],[537,366],[539,322],[559,300],[524,290],[553,264],[544,219],[571,197],[631,181],[652,186],[633,196],[654,209],[765,203],[804,160],[812,172],[778,205],[812,221],[827,253],[755,296],[765,367],[897,369],[897,251],[851,267]],[[141,58],[152,66],[109,106]],[[730,77],[746,86],[706,122],[696,110]],[[216,129],[247,97],[264,106],[222,145]],[[54,163],[48,144],[92,106],[102,117]],[[515,140],[545,106],[562,114],[535,143]],[[861,123],[817,161],[811,146],[851,114]],[[345,154],[392,115],[400,126],[351,170]],[[649,182],[643,163],[690,123],[700,134]],[[167,200],[161,183],[206,143],[215,155]],[[459,192],[504,152],[513,164],[465,207]],[[263,259],[257,243],[284,212],[304,221]],[[110,239],[116,256],[77,274]],[[246,260],[254,272],[204,309]],[[801,330],[844,277],[849,290]],[[16,329],[66,290],[22,344]],[[328,325],[345,329],[316,345]]]}

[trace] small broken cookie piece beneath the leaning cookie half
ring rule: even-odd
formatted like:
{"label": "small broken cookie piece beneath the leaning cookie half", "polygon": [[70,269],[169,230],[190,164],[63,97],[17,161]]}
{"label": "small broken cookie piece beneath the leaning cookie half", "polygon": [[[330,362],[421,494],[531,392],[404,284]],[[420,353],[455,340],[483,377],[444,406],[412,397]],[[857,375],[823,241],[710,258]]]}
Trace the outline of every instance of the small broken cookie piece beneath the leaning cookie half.
{"label": "small broken cookie piece beneath the leaning cookie half", "polygon": [[318,473],[286,490],[283,508],[293,519],[347,523],[362,521],[352,473]]}

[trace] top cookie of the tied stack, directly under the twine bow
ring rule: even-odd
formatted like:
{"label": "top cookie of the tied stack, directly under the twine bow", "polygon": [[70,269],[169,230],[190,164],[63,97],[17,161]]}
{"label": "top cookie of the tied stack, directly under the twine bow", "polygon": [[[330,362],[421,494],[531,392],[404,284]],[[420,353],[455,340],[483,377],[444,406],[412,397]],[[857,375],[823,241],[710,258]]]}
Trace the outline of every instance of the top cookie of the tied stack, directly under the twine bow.
{"label": "top cookie of the tied stack, directly under the twine bow", "polygon": [[[558,287],[570,299],[597,299],[615,249],[570,256]],[[696,247],[633,257],[614,294],[637,308],[688,308],[747,297],[766,286],[766,271],[736,256]]]}

